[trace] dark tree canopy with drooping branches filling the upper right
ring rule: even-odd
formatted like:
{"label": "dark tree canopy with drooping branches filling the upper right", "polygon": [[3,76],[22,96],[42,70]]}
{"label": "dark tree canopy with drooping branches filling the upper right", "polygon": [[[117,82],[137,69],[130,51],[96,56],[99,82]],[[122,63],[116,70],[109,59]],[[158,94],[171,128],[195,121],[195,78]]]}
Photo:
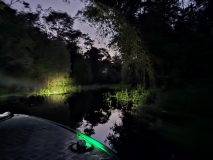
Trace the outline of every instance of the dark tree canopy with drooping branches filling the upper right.
{"label": "dark tree canopy with drooping branches filling the upper right", "polygon": [[83,21],[109,37],[123,81],[178,87],[212,77],[212,2],[82,0]]}

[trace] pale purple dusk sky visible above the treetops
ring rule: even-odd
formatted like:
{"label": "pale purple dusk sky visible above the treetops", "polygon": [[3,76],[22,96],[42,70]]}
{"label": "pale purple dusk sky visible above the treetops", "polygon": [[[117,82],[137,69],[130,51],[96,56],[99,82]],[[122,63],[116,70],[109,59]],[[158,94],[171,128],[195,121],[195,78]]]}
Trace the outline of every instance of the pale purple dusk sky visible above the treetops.
{"label": "pale purple dusk sky visible above the treetops", "polygon": [[[4,1],[6,3],[11,2],[11,0],[4,0]],[[25,0],[25,2],[30,4],[32,11],[35,11],[36,6],[38,4],[41,4],[43,9],[52,7],[54,10],[65,11],[72,17],[74,17],[76,15],[76,13],[79,9],[82,9],[84,7],[84,3],[82,3],[80,0],[70,0],[70,4],[64,3],[62,0]],[[15,3],[14,5],[12,5],[12,8],[22,10],[23,5],[21,5],[20,3]],[[90,37],[95,40],[95,37],[96,37],[95,29],[91,28],[86,23],[80,24],[76,20],[74,23],[74,28],[81,30],[81,32],[83,32],[83,33],[88,33],[90,35]],[[105,40],[103,40],[103,42],[101,42],[101,44],[98,44],[98,42],[96,41],[95,46],[98,48],[100,48],[100,47],[106,48],[106,46],[103,44],[104,42],[105,42]],[[110,54],[112,55],[113,53],[110,52]]]}

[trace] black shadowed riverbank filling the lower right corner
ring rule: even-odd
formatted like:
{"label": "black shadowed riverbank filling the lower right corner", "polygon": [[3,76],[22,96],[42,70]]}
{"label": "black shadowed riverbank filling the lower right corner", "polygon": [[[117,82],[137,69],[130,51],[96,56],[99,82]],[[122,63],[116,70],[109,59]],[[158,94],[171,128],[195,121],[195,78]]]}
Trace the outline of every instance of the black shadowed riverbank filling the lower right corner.
{"label": "black shadowed riverbank filling the lower right corner", "polygon": [[137,115],[148,117],[149,128],[175,147],[175,159],[212,159],[212,91],[208,80],[161,90],[155,103],[141,106]]}

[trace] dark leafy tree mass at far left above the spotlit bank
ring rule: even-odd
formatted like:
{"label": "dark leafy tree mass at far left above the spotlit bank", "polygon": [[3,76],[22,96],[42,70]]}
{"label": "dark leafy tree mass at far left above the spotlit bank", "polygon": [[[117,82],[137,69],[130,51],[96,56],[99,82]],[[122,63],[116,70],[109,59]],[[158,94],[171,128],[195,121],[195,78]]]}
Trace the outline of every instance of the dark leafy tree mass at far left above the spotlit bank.
{"label": "dark leafy tree mass at far left above the spotlit bank", "polygon": [[[3,3],[3,2],[1,2]],[[35,83],[45,83],[49,75],[70,70],[69,52],[59,40],[48,39],[38,25],[37,13],[17,13],[9,6],[1,10],[5,23],[0,24],[0,72]]]}

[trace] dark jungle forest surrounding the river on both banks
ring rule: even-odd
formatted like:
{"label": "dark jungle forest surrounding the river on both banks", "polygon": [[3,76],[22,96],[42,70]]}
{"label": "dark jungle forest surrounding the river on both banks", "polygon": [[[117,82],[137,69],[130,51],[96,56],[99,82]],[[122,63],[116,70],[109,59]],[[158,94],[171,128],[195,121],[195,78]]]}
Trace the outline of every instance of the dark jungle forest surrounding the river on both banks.
{"label": "dark jungle forest surrounding the river on both banks", "polygon": [[[0,1],[0,103],[11,94],[72,94],[66,103],[81,106],[77,123],[82,99],[95,105],[94,91],[104,88],[104,102],[122,112],[107,136],[121,159],[212,159],[213,1],[79,1],[85,6],[73,17]],[[106,48],[74,29],[75,20],[107,39]]]}

